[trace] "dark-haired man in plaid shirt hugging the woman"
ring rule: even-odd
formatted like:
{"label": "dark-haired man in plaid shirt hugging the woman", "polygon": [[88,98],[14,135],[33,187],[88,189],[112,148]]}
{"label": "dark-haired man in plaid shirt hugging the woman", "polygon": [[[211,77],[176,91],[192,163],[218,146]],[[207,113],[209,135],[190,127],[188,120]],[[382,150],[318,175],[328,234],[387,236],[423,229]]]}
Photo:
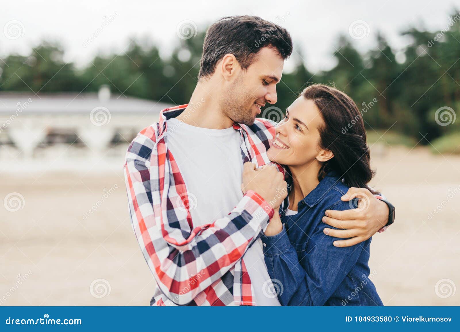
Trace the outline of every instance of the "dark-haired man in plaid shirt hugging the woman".
{"label": "dark-haired man in plaid shirt hugging the woman", "polygon": [[[207,30],[189,104],[163,110],[129,146],[132,225],[157,283],[151,305],[279,305],[262,289],[271,281],[259,233],[286,197],[286,182],[266,154],[274,123],[255,118],[276,103],[291,53],[280,26],[220,19]],[[348,194],[357,191],[365,190]],[[389,208],[370,197],[365,211],[329,214],[329,225],[354,225],[330,229],[334,237],[355,235],[335,245],[362,242],[387,223]]]}

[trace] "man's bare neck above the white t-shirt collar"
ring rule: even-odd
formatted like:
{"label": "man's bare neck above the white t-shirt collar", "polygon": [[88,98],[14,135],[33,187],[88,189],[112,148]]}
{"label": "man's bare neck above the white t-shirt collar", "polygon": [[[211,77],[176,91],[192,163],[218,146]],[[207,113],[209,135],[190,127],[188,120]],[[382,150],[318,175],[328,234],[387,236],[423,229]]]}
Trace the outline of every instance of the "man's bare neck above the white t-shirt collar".
{"label": "man's bare neck above the white t-shirt collar", "polygon": [[213,79],[196,84],[189,105],[177,117],[179,121],[208,129],[225,129],[233,125],[233,121],[224,115],[219,106],[218,87],[213,87],[213,84]]}

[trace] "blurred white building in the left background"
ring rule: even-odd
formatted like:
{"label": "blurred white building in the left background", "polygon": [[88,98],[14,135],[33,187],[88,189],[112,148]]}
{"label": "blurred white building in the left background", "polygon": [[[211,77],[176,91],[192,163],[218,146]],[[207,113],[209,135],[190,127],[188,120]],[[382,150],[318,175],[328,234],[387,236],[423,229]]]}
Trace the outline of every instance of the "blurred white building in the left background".
{"label": "blurred white building in the left background", "polygon": [[98,93],[0,92],[0,163],[120,156],[170,106],[114,95],[107,86]]}

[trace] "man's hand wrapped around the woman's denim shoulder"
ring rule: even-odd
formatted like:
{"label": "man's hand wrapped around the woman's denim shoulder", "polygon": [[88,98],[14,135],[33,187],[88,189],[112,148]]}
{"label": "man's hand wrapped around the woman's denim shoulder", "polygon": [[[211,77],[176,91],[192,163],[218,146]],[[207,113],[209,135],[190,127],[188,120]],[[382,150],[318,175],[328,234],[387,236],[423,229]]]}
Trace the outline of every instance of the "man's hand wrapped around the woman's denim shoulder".
{"label": "man's hand wrapped around the woman's denim shoulder", "polygon": [[324,234],[340,238],[351,237],[348,240],[334,241],[336,247],[351,247],[366,241],[388,221],[388,206],[375,198],[368,189],[350,188],[341,200],[347,202],[355,197],[359,197],[357,208],[344,211],[327,210],[326,216],[322,218],[324,223],[341,228],[325,228]]}

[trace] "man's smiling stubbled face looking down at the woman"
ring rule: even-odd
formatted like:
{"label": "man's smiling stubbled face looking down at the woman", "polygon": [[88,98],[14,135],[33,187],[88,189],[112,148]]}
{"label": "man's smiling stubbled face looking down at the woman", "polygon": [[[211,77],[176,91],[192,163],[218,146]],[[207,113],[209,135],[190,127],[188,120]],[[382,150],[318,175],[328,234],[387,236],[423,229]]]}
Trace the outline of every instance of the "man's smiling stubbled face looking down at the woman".
{"label": "man's smiling stubbled face looking down at the woman", "polygon": [[224,114],[234,122],[252,125],[265,103],[276,103],[276,84],[281,80],[283,65],[275,48],[262,48],[247,70],[242,70],[220,96]]}

